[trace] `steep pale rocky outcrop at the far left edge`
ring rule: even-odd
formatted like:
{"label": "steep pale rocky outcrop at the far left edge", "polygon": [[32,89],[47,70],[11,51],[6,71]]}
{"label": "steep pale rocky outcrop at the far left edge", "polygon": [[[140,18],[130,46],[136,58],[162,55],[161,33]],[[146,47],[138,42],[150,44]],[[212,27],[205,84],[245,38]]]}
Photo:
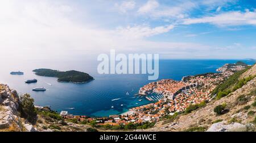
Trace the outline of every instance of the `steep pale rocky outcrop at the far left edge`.
{"label": "steep pale rocky outcrop at the far left edge", "polygon": [[19,116],[19,95],[7,85],[0,85],[0,131],[36,131],[32,125],[23,124]]}

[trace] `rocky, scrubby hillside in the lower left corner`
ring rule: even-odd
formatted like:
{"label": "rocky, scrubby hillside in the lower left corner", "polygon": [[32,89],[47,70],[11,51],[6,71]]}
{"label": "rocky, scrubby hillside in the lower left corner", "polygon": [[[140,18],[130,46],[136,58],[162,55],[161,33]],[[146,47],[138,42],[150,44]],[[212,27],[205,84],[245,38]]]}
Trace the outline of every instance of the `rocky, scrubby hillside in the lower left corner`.
{"label": "rocky, scrubby hillside in the lower left corner", "polygon": [[82,132],[90,129],[90,125],[65,121],[58,113],[49,108],[44,111],[34,108],[36,121],[30,123],[28,119],[21,117],[22,105],[22,100],[15,90],[0,84],[0,132]]}

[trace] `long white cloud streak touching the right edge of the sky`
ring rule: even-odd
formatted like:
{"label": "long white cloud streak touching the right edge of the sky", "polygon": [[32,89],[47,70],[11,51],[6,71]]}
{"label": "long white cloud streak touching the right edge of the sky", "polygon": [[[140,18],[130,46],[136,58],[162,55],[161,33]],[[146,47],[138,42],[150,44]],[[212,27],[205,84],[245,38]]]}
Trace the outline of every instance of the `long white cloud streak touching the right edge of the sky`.
{"label": "long white cloud streak touching the right edge of the sky", "polygon": [[184,19],[183,24],[210,23],[217,26],[256,25],[256,11],[232,11],[203,18]]}

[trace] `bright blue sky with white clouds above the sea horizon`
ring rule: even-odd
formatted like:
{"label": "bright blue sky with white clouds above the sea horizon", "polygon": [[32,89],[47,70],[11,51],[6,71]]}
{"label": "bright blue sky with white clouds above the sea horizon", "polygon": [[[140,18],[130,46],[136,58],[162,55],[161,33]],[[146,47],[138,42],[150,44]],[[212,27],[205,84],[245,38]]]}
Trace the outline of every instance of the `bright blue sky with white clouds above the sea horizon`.
{"label": "bright blue sky with white clouds above the sea horizon", "polygon": [[252,0],[3,0],[0,58],[83,58],[110,49],[160,58],[256,58],[255,9]]}

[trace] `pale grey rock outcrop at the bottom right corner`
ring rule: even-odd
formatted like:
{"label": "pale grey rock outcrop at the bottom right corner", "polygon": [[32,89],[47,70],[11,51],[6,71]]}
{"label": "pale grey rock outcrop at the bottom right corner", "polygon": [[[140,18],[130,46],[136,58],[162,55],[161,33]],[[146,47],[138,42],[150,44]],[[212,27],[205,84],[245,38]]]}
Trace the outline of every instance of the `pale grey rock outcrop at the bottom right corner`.
{"label": "pale grey rock outcrop at the bottom right corner", "polygon": [[240,124],[240,123],[232,123],[226,124],[225,121],[220,123],[214,123],[207,130],[207,132],[254,132],[253,124]]}

